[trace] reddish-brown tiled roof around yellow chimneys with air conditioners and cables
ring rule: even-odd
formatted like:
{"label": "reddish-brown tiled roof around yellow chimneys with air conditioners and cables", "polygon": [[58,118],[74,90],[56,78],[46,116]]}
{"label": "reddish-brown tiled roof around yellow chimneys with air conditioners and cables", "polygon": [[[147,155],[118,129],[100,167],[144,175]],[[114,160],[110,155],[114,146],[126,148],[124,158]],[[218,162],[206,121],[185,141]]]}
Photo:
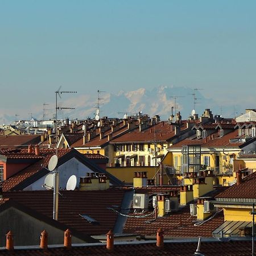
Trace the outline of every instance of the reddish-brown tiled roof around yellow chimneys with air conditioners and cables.
{"label": "reddish-brown tiled roof around yellow chimneys with air conditioners and cables", "polygon": [[[135,216],[135,214],[130,213],[131,216]],[[164,235],[169,237],[212,237],[213,230],[224,222],[223,214],[219,213],[203,225],[194,226],[196,216],[191,216],[189,205],[178,212],[159,217],[155,221],[154,218],[154,215],[145,218],[128,217],[123,233],[155,236],[155,230],[161,227],[164,229]]]}

